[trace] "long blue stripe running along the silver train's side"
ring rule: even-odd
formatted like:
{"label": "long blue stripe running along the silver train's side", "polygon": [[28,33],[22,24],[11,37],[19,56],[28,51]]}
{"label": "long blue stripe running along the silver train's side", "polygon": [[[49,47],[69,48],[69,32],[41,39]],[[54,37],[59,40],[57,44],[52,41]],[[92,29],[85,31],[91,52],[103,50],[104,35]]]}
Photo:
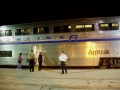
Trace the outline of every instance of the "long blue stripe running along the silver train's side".
{"label": "long blue stripe running along the silver train's side", "polygon": [[9,42],[0,42],[0,45],[10,45],[10,44],[37,44],[37,43],[61,43],[61,42],[87,42],[87,41],[116,41],[120,38],[86,38],[86,39],[77,39],[77,40],[38,40],[38,41],[9,41]]}

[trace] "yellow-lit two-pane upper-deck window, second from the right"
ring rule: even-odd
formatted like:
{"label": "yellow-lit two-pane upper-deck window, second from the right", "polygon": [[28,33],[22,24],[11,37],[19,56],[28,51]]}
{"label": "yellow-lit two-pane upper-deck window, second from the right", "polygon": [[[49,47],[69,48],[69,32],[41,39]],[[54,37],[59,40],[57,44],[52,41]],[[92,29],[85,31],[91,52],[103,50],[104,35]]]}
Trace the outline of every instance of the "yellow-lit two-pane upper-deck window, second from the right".
{"label": "yellow-lit two-pane upper-deck window, second from the right", "polygon": [[76,25],[76,32],[94,31],[94,24]]}

